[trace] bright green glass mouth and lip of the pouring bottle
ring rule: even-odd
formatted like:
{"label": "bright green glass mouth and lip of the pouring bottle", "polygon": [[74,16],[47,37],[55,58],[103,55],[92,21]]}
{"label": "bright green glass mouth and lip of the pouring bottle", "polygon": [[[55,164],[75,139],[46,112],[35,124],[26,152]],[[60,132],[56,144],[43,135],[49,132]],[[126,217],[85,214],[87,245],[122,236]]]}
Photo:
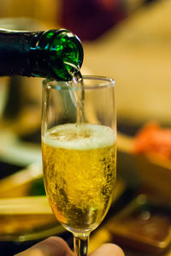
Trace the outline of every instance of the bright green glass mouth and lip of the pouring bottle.
{"label": "bright green glass mouth and lip of the pouring bottle", "polygon": [[83,63],[84,53],[80,39],[67,29],[60,29],[51,39],[49,51],[54,78],[71,80],[72,74],[80,69]]}

